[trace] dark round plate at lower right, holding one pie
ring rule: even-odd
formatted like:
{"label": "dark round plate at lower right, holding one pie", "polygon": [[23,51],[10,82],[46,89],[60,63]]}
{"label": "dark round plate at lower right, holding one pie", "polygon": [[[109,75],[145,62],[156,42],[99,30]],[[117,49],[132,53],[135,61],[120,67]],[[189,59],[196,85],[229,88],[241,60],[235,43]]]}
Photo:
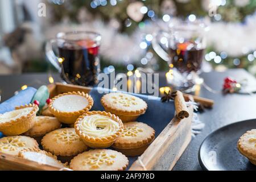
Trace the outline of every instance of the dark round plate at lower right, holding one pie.
{"label": "dark round plate at lower right, holding one pie", "polygon": [[252,129],[256,129],[256,119],[232,123],[209,134],[199,149],[201,167],[210,171],[256,171],[256,166],[237,150],[238,139]]}

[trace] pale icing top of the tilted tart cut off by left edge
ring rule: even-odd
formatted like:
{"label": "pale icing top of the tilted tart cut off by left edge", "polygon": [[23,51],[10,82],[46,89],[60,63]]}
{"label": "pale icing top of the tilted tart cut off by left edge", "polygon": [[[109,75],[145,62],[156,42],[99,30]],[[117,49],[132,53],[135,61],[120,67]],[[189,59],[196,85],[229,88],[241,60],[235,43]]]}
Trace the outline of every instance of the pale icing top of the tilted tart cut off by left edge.
{"label": "pale icing top of the tilted tart cut off by left edge", "polygon": [[0,114],[0,123],[5,123],[9,121],[14,121],[18,118],[28,115],[34,108],[33,107],[26,107],[23,109],[9,111],[4,114]]}

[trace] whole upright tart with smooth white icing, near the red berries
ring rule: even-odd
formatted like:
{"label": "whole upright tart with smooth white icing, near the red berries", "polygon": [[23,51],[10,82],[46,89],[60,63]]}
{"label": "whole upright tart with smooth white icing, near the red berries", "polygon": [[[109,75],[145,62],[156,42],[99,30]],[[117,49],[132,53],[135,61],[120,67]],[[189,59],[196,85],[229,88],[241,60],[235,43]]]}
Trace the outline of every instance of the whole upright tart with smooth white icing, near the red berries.
{"label": "whole upright tart with smooth white icing, near the red berries", "polygon": [[54,97],[49,104],[49,110],[60,122],[72,124],[92,106],[93,99],[88,94],[68,92]]}

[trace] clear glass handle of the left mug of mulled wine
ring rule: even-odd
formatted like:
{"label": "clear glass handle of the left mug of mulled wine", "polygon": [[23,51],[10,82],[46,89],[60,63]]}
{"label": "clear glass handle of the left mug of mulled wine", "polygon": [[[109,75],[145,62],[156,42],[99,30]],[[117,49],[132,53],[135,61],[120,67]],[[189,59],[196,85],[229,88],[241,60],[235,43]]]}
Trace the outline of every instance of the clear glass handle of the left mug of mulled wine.
{"label": "clear glass handle of the left mug of mulled wine", "polygon": [[51,62],[53,67],[55,67],[59,72],[61,72],[60,64],[59,64],[59,57],[55,55],[53,52],[53,44],[56,43],[56,39],[52,39],[47,41],[46,43],[46,56],[47,59]]}

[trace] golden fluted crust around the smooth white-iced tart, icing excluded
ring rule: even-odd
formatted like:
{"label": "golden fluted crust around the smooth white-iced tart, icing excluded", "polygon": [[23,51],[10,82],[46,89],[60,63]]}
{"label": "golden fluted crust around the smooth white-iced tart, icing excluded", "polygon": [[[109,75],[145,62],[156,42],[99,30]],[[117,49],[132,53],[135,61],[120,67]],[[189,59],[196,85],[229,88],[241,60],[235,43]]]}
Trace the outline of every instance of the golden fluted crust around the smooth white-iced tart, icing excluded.
{"label": "golden fluted crust around the smooth white-iced tart, icing excluded", "polygon": [[[72,112],[60,111],[60,110],[57,110],[55,107],[53,107],[53,102],[57,100],[57,98],[60,98],[61,96],[67,96],[67,95],[78,95],[78,96],[85,97],[88,100],[88,105],[82,110],[72,111]],[[59,119],[60,122],[63,122],[66,124],[72,124],[76,122],[76,119],[80,115],[92,109],[92,106],[93,106],[93,98],[90,97],[89,94],[84,92],[68,92],[68,93],[59,94],[58,96],[54,97],[52,99],[52,102],[49,104],[49,110],[57,119]]]}

